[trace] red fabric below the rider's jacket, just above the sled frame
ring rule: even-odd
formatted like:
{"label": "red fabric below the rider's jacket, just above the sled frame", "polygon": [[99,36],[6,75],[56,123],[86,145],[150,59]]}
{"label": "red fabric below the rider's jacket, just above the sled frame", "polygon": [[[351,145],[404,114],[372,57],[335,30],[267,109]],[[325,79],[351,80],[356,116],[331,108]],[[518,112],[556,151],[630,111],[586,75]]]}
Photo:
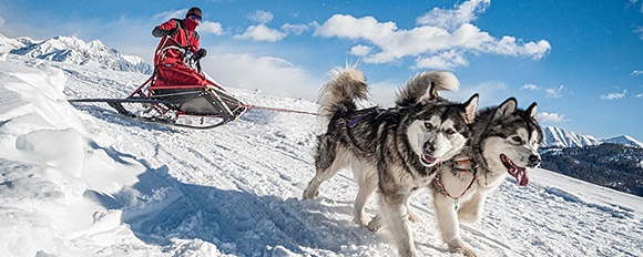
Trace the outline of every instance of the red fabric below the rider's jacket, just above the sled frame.
{"label": "red fabric below the rider's jacket, just above the sled frame", "polygon": [[178,63],[159,65],[159,75],[156,76],[156,86],[171,85],[204,85],[205,78],[196,71]]}

